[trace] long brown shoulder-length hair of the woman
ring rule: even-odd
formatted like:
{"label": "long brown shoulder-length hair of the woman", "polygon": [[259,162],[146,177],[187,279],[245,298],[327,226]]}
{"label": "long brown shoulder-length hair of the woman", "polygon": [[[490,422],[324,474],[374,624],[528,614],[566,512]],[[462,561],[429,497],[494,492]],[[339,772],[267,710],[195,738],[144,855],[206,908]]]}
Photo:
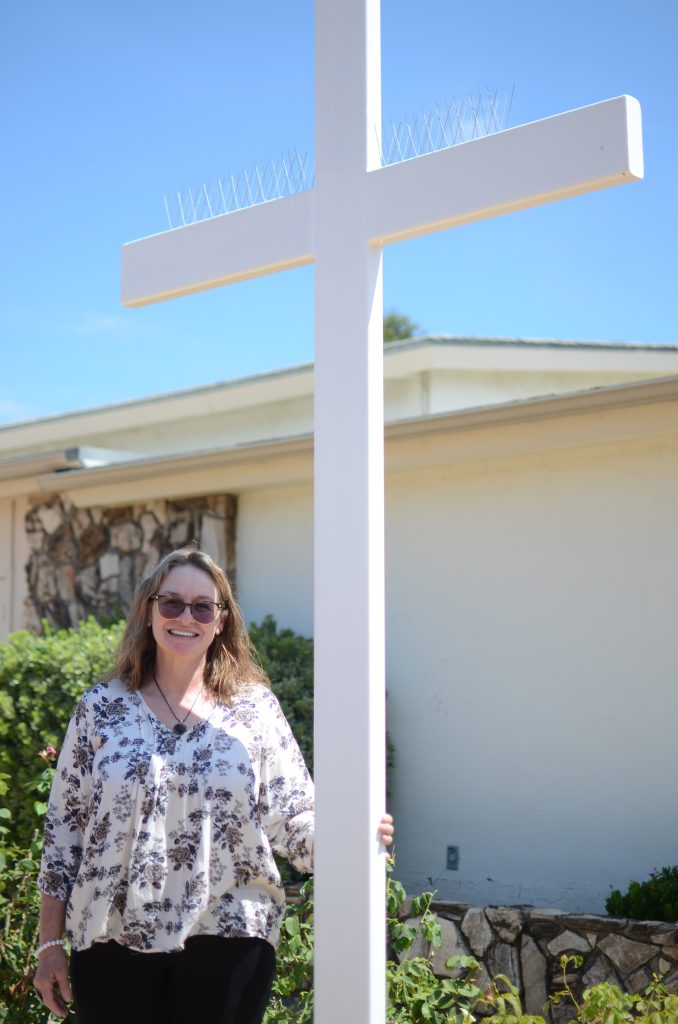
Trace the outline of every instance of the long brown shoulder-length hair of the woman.
{"label": "long brown shoulder-length hair of the woman", "polygon": [[268,686],[268,679],[258,664],[226,573],[209,555],[197,548],[179,548],[170,552],[138,585],[115,667],[107,679],[122,679],[128,689],[137,690],[151,675],[156,660],[156,640],[147,625],[149,601],[159,592],[170,569],[179,565],[193,565],[206,572],[213,581],[226,612],[221,632],[207,649],[206,689],[220,699],[230,701],[246,686],[256,683]]}

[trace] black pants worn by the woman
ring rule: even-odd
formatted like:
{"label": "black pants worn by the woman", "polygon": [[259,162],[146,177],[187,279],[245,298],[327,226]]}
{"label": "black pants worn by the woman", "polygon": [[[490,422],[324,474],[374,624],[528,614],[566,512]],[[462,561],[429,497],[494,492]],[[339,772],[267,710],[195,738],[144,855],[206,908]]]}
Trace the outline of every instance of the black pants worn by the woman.
{"label": "black pants worn by the woman", "polygon": [[78,1024],[260,1024],[274,971],[268,942],[216,935],[172,953],[97,942],[71,957]]}

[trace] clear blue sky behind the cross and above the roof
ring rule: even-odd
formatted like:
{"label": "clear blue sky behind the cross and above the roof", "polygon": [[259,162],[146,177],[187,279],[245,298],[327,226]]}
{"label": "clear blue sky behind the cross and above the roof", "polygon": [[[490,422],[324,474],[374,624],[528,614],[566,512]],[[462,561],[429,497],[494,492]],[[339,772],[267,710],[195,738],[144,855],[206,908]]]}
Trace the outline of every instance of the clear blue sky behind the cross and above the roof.
{"label": "clear blue sky behind the cross and above the roof", "polygon": [[[312,358],[312,268],[126,310],[165,193],[313,148],[310,0],[27,0],[0,32],[0,422]],[[383,110],[514,90],[510,125],[627,92],[645,180],[385,252],[429,333],[678,344],[673,0],[382,0]]]}

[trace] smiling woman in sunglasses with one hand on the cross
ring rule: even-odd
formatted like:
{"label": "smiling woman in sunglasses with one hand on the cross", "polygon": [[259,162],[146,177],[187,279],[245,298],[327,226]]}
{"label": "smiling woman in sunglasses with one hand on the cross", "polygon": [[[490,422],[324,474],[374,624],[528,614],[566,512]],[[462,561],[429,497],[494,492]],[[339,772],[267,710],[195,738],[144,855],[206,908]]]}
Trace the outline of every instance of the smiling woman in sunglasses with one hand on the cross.
{"label": "smiling woman in sunglasses with one hand on the cross", "polygon": [[[392,836],[386,815],[383,843]],[[258,1024],[284,892],[312,867],[312,782],[228,581],[168,555],[136,590],[110,678],[61,748],[34,985],[79,1024]],[[71,981],[61,936],[72,943]]]}

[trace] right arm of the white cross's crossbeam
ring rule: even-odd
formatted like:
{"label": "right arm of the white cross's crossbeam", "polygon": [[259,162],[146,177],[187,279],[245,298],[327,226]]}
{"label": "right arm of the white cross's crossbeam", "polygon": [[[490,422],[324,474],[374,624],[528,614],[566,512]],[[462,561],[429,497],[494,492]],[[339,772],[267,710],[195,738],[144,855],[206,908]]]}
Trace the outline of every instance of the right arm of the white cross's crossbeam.
{"label": "right arm of the white cross's crossbeam", "polygon": [[370,242],[389,245],[642,176],[640,104],[618,96],[368,175]]}

